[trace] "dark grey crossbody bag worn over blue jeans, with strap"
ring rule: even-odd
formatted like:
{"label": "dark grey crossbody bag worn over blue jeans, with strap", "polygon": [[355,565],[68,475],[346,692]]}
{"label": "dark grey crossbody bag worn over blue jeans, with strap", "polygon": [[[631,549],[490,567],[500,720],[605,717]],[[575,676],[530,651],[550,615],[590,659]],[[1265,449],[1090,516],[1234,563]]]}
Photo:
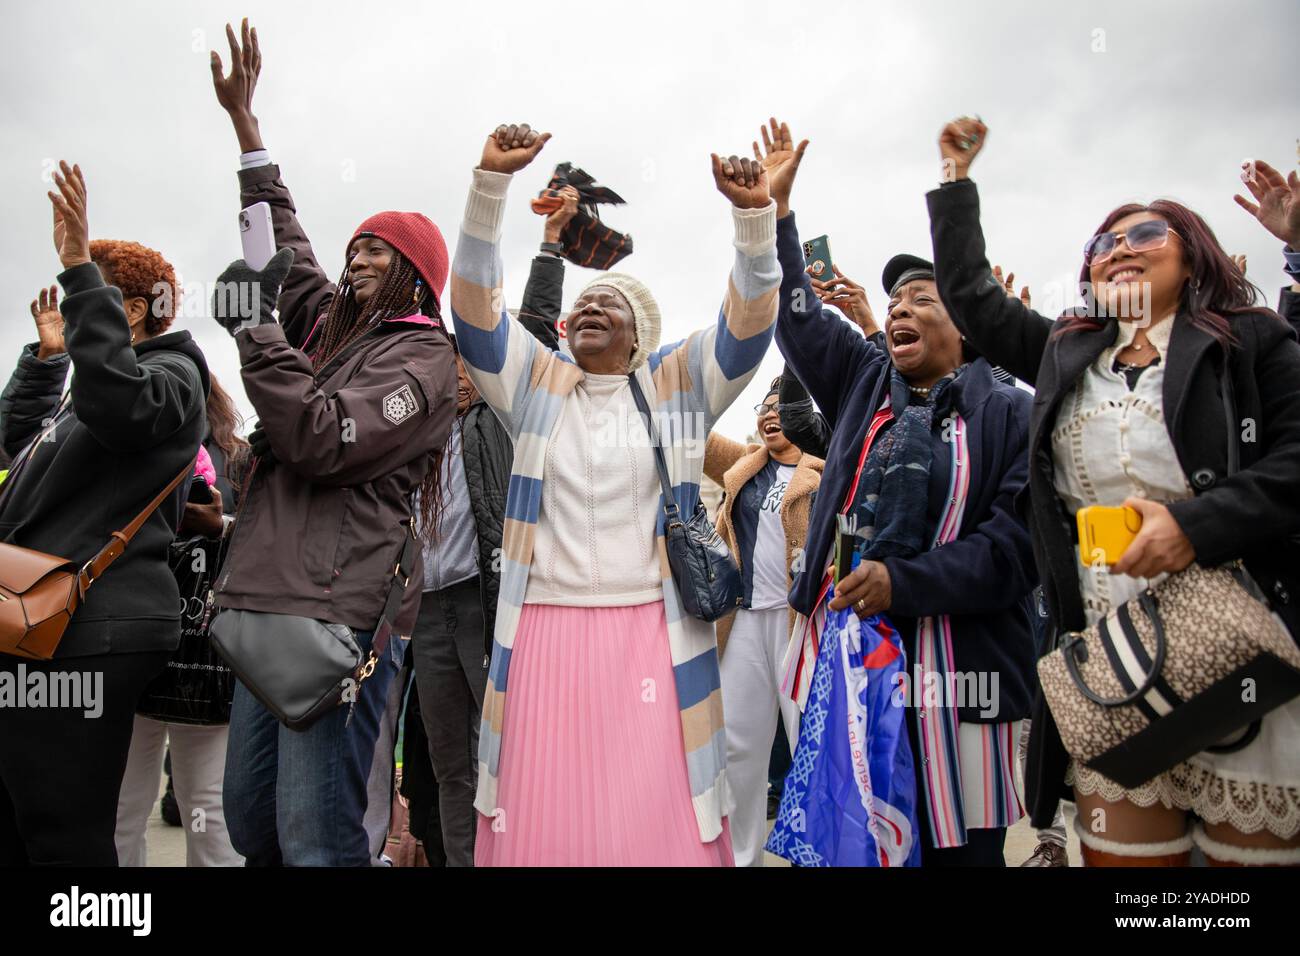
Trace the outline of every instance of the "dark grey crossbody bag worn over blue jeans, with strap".
{"label": "dark grey crossbody bag worn over blue jeans, with strap", "polygon": [[212,622],[212,643],[235,676],[290,730],[304,731],[341,704],[356,702],[361,684],[387,650],[402,609],[417,542],[404,522],[402,557],[367,654],[347,624],[296,614],[230,609]]}

